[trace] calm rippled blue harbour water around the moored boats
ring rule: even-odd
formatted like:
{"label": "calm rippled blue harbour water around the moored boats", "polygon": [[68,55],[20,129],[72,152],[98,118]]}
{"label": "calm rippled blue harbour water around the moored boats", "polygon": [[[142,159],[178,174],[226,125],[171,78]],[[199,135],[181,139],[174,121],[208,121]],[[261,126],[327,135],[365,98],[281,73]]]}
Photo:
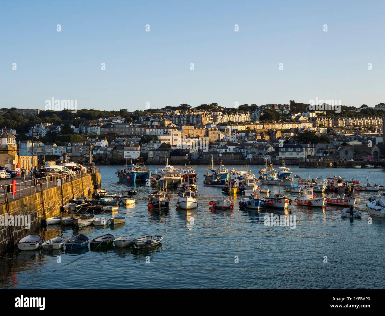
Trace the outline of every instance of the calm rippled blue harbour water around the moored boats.
{"label": "calm rippled blue harbour water around the moored boats", "polygon": [[[149,166],[153,171],[156,166]],[[292,204],[286,214],[296,216],[296,228],[265,226],[270,211],[212,210],[208,202],[222,196],[220,188],[202,186],[206,167],[198,173],[199,207],[195,211],[149,211],[151,188],[134,184],[136,205],[119,208],[127,216],[121,226],[88,226],[72,232],[70,226],[50,225],[40,234],[45,240],[85,233],[90,239],[112,233],[115,237],[164,237],[161,245],[144,250],[7,253],[0,258],[0,288],[384,288],[385,220],[368,225],[365,203],[372,194],[358,192],[361,220],[343,219],[341,208],[323,209]],[[231,168],[231,166],[229,166]],[[117,166],[101,166],[102,187],[126,193],[117,182]],[[246,169],[237,166],[236,169]],[[260,166],[251,170],[256,174]],[[292,168],[301,177],[329,176],[329,169]],[[333,175],[362,183],[385,184],[383,169],[332,169]],[[273,193],[277,187],[269,186]],[[381,193],[380,193],[381,194]],[[263,194],[262,194],[263,195]],[[290,194],[288,194],[290,195]],[[177,200],[171,189],[172,205]],[[295,198],[295,194],[291,194]],[[274,211],[276,215],[283,212]],[[108,216],[108,215],[107,215]],[[324,263],[327,256],[327,263]],[[61,260],[58,263],[58,258]],[[236,263],[235,261],[237,261]]]}

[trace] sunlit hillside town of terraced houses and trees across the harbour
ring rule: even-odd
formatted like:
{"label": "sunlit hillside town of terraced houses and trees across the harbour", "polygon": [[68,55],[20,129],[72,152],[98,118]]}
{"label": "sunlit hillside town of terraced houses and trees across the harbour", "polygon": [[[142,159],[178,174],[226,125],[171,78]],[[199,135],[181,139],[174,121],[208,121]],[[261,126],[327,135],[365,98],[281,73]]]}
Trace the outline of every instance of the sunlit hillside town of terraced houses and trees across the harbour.
{"label": "sunlit hillside town of terraced houses and trees across the harbour", "polygon": [[[207,164],[222,159],[263,164],[267,156],[273,162],[284,159],[286,164],[380,161],[385,154],[383,110],[383,103],[374,108],[348,107],[338,115],[310,111],[294,101],[233,109],[216,103],[196,108],[181,104],[95,119],[78,112],[79,116],[75,114],[66,123],[55,123],[44,122],[47,115],[40,119],[42,113],[54,111],[3,108],[0,160],[11,169],[21,161],[28,167],[31,159],[36,159],[35,164],[51,160],[88,162],[90,158],[99,164],[125,164],[139,157],[161,164],[167,159],[178,163]],[[371,115],[373,111],[375,115]],[[37,123],[29,124],[23,132],[14,124],[9,126],[7,115]],[[49,142],[44,141],[47,138]]]}

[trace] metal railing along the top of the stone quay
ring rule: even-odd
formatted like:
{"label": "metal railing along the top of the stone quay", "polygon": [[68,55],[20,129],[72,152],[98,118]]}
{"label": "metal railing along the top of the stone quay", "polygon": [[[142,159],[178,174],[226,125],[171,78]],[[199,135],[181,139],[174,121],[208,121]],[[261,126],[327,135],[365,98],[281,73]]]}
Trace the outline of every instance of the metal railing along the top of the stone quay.
{"label": "metal railing along the top of the stone quay", "polygon": [[[17,199],[22,198],[24,196],[28,196],[33,193],[40,192],[40,186],[37,185],[38,182],[41,183],[42,189],[53,188],[55,186],[61,186],[62,182],[67,183],[73,181],[75,179],[80,179],[84,176],[87,176],[91,173],[99,172],[99,167],[93,167],[92,169],[83,169],[79,171],[74,171],[74,174],[68,174],[66,179],[63,176],[55,175],[49,177],[40,177],[27,181],[17,182],[15,184],[5,184],[2,185],[2,181],[0,180],[0,188],[5,188],[5,192],[7,192],[7,199]],[[9,179],[9,178],[8,178]],[[16,187],[15,187],[16,186]],[[0,203],[4,203],[6,200],[5,194],[3,190],[0,190]]]}

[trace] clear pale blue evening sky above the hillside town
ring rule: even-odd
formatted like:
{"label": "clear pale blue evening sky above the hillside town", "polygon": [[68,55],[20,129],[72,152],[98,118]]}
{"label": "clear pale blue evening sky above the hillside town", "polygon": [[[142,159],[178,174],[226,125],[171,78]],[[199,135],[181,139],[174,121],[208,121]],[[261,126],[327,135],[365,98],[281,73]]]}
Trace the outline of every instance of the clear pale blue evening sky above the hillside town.
{"label": "clear pale blue evening sky above the hillside town", "polygon": [[51,98],[99,110],[315,98],[373,106],[385,102],[384,9],[384,1],[3,0],[0,107],[44,110]]}

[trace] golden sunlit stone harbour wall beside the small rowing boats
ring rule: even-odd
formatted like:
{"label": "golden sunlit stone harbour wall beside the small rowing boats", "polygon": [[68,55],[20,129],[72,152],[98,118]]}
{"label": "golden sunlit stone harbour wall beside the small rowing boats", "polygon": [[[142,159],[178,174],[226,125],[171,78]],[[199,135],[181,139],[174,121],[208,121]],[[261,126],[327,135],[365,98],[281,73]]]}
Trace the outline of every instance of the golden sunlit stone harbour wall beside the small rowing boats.
{"label": "golden sunlit stone harbour wall beside the small rowing boats", "polygon": [[[99,175],[99,176],[97,176]],[[93,177],[92,177],[93,176]],[[20,238],[28,233],[32,233],[42,225],[45,218],[60,215],[60,209],[67,204],[70,199],[78,196],[89,196],[94,188],[100,187],[100,174],[88,174],[80,179],[68,181],[62,186],[55,186],[43,190],[43,199],[41,193],[33,193],[24,198],[12,200],[12,196],[8,194],[9,199],[9,215],[29,215],[31,216],[30,228],[25,226],[5,226],[0,225],[0,253],[5,252],[12,245],[16,245]],[[6,216],[7,208],[2,197],[0,205],[0,216]],[[44,211],[43,211],[44,209]]]}

